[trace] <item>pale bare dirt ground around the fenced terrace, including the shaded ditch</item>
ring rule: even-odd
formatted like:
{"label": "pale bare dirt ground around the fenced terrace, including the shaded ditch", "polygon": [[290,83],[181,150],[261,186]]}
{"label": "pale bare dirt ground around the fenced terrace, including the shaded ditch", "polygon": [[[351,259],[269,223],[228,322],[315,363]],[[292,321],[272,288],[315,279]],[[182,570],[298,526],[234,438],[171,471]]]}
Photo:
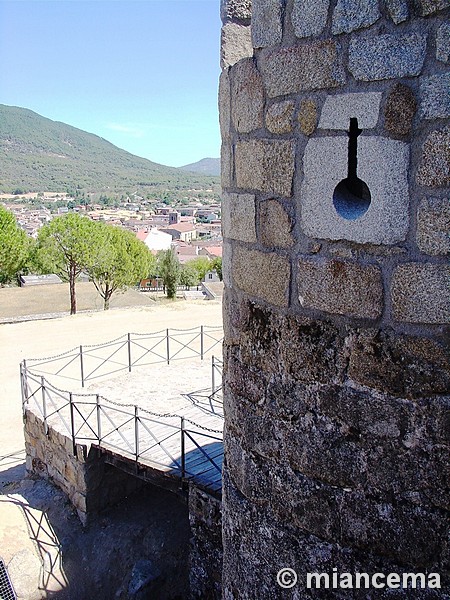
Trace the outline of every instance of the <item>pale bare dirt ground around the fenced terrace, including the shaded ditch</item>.
{"label": "pale bare dirt ground around the fenced terrace, including the shaded ditch", "polygon": [[[86,304],[83,285],[91,298]],[[100,308],[87,286],[79,286],[80,309]],[[117,296],[122,306],[135,303],[129,309],[117,304],[114,308],[113,303],[107,312],[5,323],[67,310],[68,292],[65,297],[63,288],[0,289],[0,557],[23,600],[128,598],[131,571],[136,565],[142,567],[142,559],[147,561],[144,570],[160,571],[159,591],[152,598],[184,598],[189,524],[186,507],[178,498],[148,486],[83,529],[61,492],[47,482],[26,478],[19,363],[80,344],[106,342],[129,331],[220,325],[221,304],[161,305],[147,294],[133,292]]]}

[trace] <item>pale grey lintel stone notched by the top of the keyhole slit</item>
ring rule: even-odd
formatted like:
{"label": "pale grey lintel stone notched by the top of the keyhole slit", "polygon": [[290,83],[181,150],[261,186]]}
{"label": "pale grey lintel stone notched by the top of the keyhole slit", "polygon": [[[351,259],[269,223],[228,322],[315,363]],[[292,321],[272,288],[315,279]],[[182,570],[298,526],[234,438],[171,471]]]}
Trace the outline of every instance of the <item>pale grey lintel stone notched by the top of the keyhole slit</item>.
{"label": "pale grey lintel stone notched by the top of the keyhole slit", "polygon": [[358,119],[360,129],[376,127],[380,114],[381,92],[327,96],[319,120],[319,129],[348,131],[350,119]]}

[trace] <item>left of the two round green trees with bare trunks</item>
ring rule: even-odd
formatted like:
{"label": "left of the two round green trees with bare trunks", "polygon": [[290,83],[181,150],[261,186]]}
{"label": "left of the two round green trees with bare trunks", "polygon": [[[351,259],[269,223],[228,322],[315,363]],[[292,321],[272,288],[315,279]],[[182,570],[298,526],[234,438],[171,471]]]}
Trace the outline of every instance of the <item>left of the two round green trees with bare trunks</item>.
{"label": "left of the two round green trees with bare trunks", "polygon": [[97,251],[98,228],[88,217],[69,213],[39,230],[36,263],[41,273],[56,273],[69,282],[70,314],[77,312],[75,282]]}

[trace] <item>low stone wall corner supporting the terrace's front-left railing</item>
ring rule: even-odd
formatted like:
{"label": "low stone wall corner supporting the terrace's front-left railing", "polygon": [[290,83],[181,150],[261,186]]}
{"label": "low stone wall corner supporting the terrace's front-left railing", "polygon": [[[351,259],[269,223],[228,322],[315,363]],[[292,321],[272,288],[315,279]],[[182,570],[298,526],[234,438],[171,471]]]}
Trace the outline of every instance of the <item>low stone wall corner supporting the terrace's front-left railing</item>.
{"label": "low stone wall corner supporting the terrace's front-left railing", "polygon": [[30,410],[24,417],[26,466],[31,473],[61,488],[85,525],[89,516],[114,506],[144,482],[105,462],[93,447],[73,444],[72,439],[44,422]]}

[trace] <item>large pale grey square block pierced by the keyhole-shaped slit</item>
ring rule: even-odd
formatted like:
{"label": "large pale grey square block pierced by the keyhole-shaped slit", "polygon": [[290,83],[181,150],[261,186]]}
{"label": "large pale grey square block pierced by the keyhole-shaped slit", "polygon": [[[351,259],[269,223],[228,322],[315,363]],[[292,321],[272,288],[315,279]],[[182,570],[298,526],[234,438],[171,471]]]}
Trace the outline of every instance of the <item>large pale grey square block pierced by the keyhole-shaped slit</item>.
{"label": "large pale grey square block pierced by the keyhole-shaped slit", "polygon": [[343,218],[333,205],[336,186],[347,177],[348,137],[312,138],[303,157],[301,227],[306,235],[358,243],[394,244],[409,226],[408,145],[381,137],[358,138],[358,177],[371,194],[367,212]]}

